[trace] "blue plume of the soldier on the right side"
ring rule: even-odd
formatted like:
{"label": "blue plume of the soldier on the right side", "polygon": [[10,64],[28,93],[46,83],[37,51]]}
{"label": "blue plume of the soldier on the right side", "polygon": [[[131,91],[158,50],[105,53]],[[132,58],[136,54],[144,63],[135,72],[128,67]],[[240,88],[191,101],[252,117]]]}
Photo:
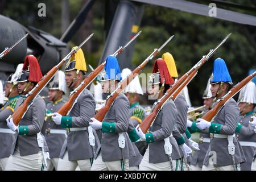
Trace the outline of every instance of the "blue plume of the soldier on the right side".
{"label": "blue plume of the soldier on the right side", "polygon": [[232,82],[226,63],[221,58],[214,60],[212,82]]}

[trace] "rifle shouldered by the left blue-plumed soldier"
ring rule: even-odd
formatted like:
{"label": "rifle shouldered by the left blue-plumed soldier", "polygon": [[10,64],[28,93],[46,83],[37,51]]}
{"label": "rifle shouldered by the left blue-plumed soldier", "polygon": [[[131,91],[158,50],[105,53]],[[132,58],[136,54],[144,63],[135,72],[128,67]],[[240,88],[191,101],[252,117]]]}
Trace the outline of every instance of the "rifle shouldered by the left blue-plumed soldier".
{"label": "rifle shouldered by the left blue-plumed soldier", "polygon": [[98,113],[96,115],[94,115],[94,118],[97,119],[98,121],[103,120],[103,118],[105,117],[106,113],[109,111],[110,106],[112,105],[112,103],[114,102],[115,98],[118,96],[119,93],[122,92],[123,89],[125,89],[125,87],[127,85],[129,85],[129,83],[133,80],[133,78],[135,76],[138,75],[138,73],[140,71],[142,71],[142,69],[144,68],[144,66],[151,60],[153,59],[153,57],[155,57],[160,51],[161,49],[166,46],[166,44],[168,42],[170,42],[170,40],[174,37],[174,35],[172,35],[168,40],[166,40],[166,42],[159,47],[158,49],[154,49],[154,51],[151,53],[150,56],[147,57],[147,59],[145,59],[141,65],[139,65],[137,68],[135,68],[133,70],[133,72],[130,73],[130,75],[128,75],[117,87],[117,89],[115,89],[106,99],[106,104],[104,107],[102,107]]}

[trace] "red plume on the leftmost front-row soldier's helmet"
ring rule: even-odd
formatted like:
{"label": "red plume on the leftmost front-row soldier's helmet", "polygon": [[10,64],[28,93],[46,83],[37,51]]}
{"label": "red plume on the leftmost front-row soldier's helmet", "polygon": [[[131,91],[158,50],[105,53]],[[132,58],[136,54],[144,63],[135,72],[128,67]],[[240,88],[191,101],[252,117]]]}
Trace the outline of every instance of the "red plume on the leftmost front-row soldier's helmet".
{"label": "red plume on the leftmost front-row soldier's helmet", "polygon": [[28,69],[28,65],[30,66],[30,76],[28,76],[28,81],[31,82],[39,82],[40,79],[43,77],[41,73],[41,69],[38,63],[38,60],[33,55],[28,55],[25,57],[24,65],[22,70]]}

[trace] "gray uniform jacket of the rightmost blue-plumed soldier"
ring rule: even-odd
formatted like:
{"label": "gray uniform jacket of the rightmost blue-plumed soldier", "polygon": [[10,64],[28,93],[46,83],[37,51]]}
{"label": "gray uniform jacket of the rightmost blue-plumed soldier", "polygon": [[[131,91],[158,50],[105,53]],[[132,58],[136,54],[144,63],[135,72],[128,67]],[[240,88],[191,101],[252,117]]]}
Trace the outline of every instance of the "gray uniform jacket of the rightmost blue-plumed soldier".
{"label": "gray uniform jacket of the rightmost blue-plumed soldier", "polygon": [[[220,123],[222,125],[220,134],[233,135],[236,130],[236,123],[239,117],[239,110],[237,102],[230,98],[228,102],[221,108],[218,114],[214,117],[213,123]],[[207,130],[207,129],[206,129]],[[235,163],[239,164],[245,162],[245,155],[243,154],[242,147],[236,137],[233,138],[233,143],[236,147],[234,159]],[[207,155],[204,159],[204,165],[208,166],[209,152],[214,151],[216,154],[216,163],[214,166],[230,166],[232,165],[232,156],[228,153],[228,139],[227,138],[214,138],[210,140],[210,145]]]}

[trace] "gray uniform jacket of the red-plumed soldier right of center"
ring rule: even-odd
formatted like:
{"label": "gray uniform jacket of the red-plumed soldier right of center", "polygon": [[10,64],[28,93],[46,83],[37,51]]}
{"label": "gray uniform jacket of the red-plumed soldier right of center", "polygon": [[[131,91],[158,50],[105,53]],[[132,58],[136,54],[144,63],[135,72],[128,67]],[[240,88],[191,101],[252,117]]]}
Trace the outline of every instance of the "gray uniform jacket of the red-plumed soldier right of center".
{"label": "gray uniform jacket of the red-plumed soldier right of center", "polygon": [[[164,104],[162,110],[158,113],[158,116],[155,118],[155,121],[150,128],[155,140],[155,142],[148,144],[150,163],[162,163],[170,161],[168,155],[166,155],[164,151],[164,139],[172,134],[176,121],[176,106],[172,100],[169,100],[166,102],[166,104]],[[174,137],[170,137],[170,143],[172,145],[172,160],[180,159],[179,153],[174,152],[179,151],[179,147],[177,146],[177,142]]]}

